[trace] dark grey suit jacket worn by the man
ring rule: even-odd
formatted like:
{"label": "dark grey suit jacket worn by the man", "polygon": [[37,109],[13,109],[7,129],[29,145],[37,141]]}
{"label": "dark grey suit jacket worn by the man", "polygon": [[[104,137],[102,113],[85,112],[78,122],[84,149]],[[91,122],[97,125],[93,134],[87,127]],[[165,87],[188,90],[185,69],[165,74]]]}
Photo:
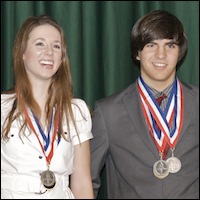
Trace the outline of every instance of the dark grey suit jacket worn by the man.
{"label": "dark grey suit jacket worn by the man", "polygon": [[137,83],[96,102],[91,140],[95,196],[105,163],[109,199],[199,198],[199,89],[183,84],[183,94],[184,121],[174,152],[182,168],[164,179],[153,175],[160,157],[142,112]]}

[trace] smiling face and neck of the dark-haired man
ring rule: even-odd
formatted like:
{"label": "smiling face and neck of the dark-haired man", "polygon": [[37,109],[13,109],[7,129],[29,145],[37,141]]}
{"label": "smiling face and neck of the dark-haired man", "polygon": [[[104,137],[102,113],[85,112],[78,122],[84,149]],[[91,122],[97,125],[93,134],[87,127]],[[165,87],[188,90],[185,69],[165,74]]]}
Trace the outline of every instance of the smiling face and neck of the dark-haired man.
{"label": "smiling face and neck of the dark-haired man", "polygon": [[178,57],[179,46],[172,40],[158,39],[149,42],[137,56],[142,78],[155,89],[165,89],[174,81]]}

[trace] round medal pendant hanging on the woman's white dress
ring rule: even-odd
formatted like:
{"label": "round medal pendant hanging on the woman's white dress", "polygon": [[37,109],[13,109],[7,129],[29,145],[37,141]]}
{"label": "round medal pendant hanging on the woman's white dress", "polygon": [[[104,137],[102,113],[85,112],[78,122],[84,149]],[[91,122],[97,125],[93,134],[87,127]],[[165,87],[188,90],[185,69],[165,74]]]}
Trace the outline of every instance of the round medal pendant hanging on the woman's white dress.
{"label": "round medal pendant hanging on the woman's white dress", "polygon": [[52,189],[56,184],[56,177],[54,173],[50,170],[46,170],[41,174],[41,181],[47,189]]}

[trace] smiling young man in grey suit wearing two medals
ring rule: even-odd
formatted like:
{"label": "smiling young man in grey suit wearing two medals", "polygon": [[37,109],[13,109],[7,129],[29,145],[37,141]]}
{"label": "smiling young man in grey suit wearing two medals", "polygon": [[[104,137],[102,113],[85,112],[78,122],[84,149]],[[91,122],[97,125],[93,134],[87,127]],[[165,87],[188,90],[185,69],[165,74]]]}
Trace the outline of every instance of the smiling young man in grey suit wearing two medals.
{"label": "smiling young man in grey suit wearing two medals", "polygon": [[97,101],[93,113],[95,196],[105,164],[109,199],[197,199],[199,89],[176,76],[187,50],[183,26],[153,11],[136,22],[131,40],[140,76]]}

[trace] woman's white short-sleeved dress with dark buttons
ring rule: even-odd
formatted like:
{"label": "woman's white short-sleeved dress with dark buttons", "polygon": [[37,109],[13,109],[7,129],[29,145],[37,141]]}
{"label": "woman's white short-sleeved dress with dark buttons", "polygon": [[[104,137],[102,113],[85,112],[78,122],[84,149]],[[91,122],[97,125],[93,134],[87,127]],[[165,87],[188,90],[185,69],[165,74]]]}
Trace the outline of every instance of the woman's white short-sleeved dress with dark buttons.
{"label": "woman's white short-sleeved dress with dark buttons", "polygon": [[[11,98],[12,96],[14,95],[1,95],[1,131],[7,114],[12,108],[14,100]],[[63,130],[69,140],[61,138],[59,144],[58,138],[54,141],[54,154],[49,169],[55,174],[56,185],[50,190],[46,190],[40,180],[40,173],[47,170],[47,163],[37,137],[33,131],[30,134],[30,130],[27,128],[25,130],[26,136],[22,135],[20,139],[21,119],[12,123],[9,133],[10,139],[8,141],[1,139],[1,199],[74,198],[69,188],[69,175],[73,173],[74,145],[79,144],[79,139],[81,143],[92,139],[93,135],[91,133],[91,115],[85,101],[73,99],[72,108],[79,138],[72,122],[70,122],[70,134],[68,134],[66,122],[63,123]],[[31,112],[28,113],[35,130],[38,130]],[[39,131],[38,136],[42,141]]]}

